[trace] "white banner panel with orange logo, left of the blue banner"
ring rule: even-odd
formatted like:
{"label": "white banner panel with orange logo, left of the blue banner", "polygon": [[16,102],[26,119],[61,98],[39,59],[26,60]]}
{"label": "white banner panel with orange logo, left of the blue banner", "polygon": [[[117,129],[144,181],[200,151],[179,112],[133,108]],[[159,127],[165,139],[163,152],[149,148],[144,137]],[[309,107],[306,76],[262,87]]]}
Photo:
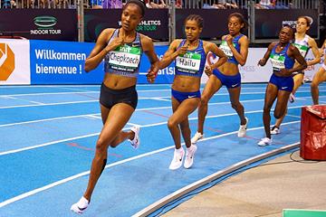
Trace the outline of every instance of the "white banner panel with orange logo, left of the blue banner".
{"label": "white banner panel with orange logo, left of the blue banner", "polygon": [[31,83],[29,48],[27,40],[0,39],[0,85]]}

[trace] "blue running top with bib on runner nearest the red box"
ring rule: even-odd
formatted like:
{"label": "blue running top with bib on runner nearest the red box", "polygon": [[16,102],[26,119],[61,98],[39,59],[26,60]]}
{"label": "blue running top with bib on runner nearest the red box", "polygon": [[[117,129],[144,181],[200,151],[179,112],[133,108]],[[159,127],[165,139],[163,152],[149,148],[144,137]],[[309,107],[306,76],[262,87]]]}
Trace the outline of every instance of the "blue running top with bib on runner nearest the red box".
{"label": "blue running top with bib on runner nearest the red box", "polygon": [[287,55],[287,50],[290,46],[290,43],[288,43],[284,49],[281,52],[276,52],[276,47],[278,43],[273,47],[273,50],[270,54],[270,60],[272,62],[273,66],[273,71],[281,71],[283,69],[292,69],[294,65],[294,60],[292,60],[288,55]]}

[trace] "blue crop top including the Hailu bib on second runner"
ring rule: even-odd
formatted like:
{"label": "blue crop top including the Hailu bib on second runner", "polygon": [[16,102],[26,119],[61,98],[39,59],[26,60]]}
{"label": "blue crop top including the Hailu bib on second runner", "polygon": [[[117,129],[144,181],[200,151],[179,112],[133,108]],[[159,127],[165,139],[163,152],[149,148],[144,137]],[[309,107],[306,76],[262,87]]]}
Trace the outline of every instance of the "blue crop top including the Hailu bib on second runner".
{"label": "blue crop top including the Hailu bib on second runner", "polygon": [[[185,44],[183,40],[179,47]],[[176,75],[187,75],[201,77],[206,62],[206,53],[203,47],[203,41],[199,40],[197,49],[180,54],[176,58]]]}

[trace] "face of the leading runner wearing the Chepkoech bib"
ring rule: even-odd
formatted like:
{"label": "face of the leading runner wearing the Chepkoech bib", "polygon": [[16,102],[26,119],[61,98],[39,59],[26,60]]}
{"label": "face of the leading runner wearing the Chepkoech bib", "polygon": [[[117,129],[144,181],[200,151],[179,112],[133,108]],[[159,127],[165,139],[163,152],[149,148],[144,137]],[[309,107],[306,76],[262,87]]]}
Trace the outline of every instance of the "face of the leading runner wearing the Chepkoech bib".
{"label": "face of the leading runner wearing the Chepkoech bib", "polygon": [[129,4],[121,14],[121,23],[123,30],[129,32],[137,28],[142,16],[138,5]]}

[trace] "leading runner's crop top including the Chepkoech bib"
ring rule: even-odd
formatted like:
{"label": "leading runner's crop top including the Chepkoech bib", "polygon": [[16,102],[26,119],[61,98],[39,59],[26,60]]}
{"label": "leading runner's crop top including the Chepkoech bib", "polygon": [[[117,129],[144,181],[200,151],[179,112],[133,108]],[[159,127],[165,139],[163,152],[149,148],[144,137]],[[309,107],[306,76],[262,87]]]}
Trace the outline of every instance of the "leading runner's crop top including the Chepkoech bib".
{"label": "leading runner's crop top including the Chepkoech bib", "polygon": [[[118,31],[116,30],[113,33],[110,42],[117,36]],[[141,54],[142,49],[140,37],[139,33],[137,33],[134,42],[122,44],[105,56],[105,71],[125,77],[137,77],[139,74],[139,62]]]}

